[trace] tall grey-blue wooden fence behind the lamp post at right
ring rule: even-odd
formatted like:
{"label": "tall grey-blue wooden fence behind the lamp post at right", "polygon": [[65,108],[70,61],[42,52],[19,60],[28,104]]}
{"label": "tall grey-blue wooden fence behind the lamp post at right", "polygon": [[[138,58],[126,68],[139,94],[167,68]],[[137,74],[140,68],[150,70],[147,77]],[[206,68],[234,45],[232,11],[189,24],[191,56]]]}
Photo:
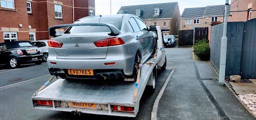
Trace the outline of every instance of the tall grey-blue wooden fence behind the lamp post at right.
{"label": "tall grey-blue wooden fence behind the lamp post at right", "polygon": [[[226,78],[242,75],[256,78],[256,19],[246,22],[228,22]],[[212,26],[210,60],[219,72],[223,23]]]}

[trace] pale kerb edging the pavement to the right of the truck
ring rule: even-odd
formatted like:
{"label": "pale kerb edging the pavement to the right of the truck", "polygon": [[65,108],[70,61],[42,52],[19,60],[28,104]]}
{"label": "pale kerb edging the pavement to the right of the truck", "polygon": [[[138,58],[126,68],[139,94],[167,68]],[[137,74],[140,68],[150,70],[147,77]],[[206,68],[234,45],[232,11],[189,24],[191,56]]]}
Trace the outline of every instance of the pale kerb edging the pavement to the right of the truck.
{"label": "pale kerb edging the pavement to the right of the truck", "polygon": [[156,100],[154,102],[154,105],[153,105],[153,108],[152,108],[152,112],[151,112],[151,120],[157,120],[157,109],[158,109],[159,101],[160,101],[160,99],[161,99],[161,97],[162,97],[162,95],[164,93],[164,90],[165,90],[165,88],[166,88],[166,86],[167,86],[167,84],[168,84],[168,82],[169,82],[169,80],[170,80],[170,78],[172,76],[172,73],[174,72],[176,67],[174,66],[172,68],[173,69],[171,70],[169,76],[165,80],[164,85],[162,86],[160,92],[158,93],[158,95],[156,97]]}

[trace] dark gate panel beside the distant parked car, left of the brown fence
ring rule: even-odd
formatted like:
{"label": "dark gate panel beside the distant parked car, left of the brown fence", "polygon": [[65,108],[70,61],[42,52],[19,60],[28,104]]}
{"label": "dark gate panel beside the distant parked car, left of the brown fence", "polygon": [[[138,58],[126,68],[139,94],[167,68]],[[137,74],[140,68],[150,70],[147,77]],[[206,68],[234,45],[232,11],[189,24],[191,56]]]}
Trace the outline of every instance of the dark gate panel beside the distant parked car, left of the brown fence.
{"label": "dark gate panel beside the distant parked car, left of the brown fence", "polygon": [[179,46],[193,45],[193,40],[194,40],[194,29],[179,31]]}

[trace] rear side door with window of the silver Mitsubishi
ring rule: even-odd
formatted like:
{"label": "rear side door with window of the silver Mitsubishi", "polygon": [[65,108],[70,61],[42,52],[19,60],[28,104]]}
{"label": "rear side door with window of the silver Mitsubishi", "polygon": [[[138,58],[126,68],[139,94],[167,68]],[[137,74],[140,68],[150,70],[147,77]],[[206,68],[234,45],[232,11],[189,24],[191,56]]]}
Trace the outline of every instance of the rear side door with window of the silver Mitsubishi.
{"label": "rear side door with window of the silver Mitsubishi", "polygon": [[134,17],[130,17],[129,18],[129,22],[133,28],[133,35],[134,37],[141,43],[142,45],[142,55],[143,55],[143,58],[145,57],[146,55],[146,47],[147,47],[147,42],[146,42],[146,34],[144,32],[141,31],[137,21],[135,20]]}

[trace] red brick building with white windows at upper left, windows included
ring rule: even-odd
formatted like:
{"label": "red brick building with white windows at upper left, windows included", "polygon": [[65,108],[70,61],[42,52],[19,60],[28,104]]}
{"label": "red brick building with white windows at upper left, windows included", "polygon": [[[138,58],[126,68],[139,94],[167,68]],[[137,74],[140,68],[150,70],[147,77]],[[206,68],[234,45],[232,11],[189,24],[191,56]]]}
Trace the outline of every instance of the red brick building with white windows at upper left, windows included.
{"label": "red brick building with white windows at upper left, windows included", "polygon": [[73,0],[1,0],[0,3],[0,42],[49,39],[49,26],[73,23],[95,14],[95,0],[74,0],[74,19]]}

